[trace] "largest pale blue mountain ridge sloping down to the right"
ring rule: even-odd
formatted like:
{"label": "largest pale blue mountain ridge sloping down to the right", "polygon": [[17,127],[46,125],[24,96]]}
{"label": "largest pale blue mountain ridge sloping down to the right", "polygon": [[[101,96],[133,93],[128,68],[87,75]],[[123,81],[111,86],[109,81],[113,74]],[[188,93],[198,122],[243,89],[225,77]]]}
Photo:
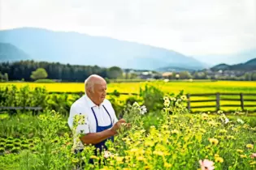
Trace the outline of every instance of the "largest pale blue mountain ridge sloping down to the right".
{"label": "largest pale blue mountain ridge sloping down to the right", "polygon": [[155,70],[166,66],[192,70],[205,67],[193,57],[168,49],[77,32],[15,28],[0,31],[0,42],[15,45],[38,62],[120,66],[141,70]]}

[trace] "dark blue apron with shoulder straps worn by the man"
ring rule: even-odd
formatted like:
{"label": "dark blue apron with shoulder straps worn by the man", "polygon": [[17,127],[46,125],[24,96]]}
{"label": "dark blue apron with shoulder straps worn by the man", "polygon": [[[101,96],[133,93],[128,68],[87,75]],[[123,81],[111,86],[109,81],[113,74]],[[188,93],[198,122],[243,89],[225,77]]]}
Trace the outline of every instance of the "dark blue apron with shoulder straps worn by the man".
{"label": "dark blue apron with shoulder straps worn by the man", "polygon": [[[106,110],[105,106],[104,106],[104,105],[102,105],[102,106],[103,106],[103,108]],[[108,113],[107,110],[106,110],[106,113],[108,114],[108,116],[109,116],[110,119],[111,119],[111,125],[99,126],[99,125],[98,125],[98,119],[97,119],[97,117],[96,117],[96,115],[95,115],[95,113],[94,113],[93,107],[92,107],[91,109],[92,109],[93,115],[94,115],[94,117],[95,117],[95,121],[96,121],[96,132],[97,132],[97,133],[98,133],[98,132],[102,132],[102,131],[104,131],[104,130],[108,130],[108,129],[110,129],[110,128],[113,126],[113,124],[112,124],[112,119],[111,119],[111,115],[110,115],[110,113]],[[105,142],[106,142],[107,140],[111,140],[112,142],[114,142],[114,136],[112,136],[111,138],[106,138],[105,140],[103,140],[102,142],[99,142],[99,143],[97,143],[97,144],[94,144],[94,147],[96,147],[96,150],[99,149],[100,152],[102,152],[102,149],[107,150],[106,145],[105,145]],[[96,151],[95,151],[95,154],[96,154]]]}

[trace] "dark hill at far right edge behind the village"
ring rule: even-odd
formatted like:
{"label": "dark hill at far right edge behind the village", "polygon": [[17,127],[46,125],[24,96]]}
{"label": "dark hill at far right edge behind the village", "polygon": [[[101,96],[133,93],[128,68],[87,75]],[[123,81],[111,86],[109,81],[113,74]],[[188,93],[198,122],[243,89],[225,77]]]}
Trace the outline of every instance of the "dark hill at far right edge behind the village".
{"label": "dark hill at far right edge behind the village", "polygon": [[236,65],[227,65],[219,64],[212,67],[210,70],[240,70],[240,71],[251,71],[256,70],[256,58],[249,60],[248,62],[236,64]]}

